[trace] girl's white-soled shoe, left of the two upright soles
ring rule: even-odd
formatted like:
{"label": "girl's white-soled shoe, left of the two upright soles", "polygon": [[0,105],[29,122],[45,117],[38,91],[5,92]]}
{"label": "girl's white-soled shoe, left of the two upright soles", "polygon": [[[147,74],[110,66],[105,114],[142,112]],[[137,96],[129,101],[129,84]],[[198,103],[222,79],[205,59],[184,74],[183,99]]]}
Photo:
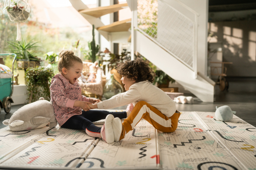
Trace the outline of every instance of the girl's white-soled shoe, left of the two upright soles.
{"label": "girl's white-soled shoe, left of the two upright soles", "polygon": [[115,141],[113,126],[112,126],[113,119],[114,119],[114,116],[112,114],[108,114],[105,119],[105,124],[102,127],[103,129],[101,130],[102,139],[105,140],[107,143],[113,143]]}

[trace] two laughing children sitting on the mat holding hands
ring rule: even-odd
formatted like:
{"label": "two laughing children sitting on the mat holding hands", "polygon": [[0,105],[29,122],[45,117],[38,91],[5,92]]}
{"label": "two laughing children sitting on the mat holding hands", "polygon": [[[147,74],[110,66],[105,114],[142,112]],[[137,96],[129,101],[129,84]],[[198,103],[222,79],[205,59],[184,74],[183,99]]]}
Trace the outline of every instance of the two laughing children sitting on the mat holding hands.
{"label": "two laughing children sitting on the mat holding hands", "polygon": [[[102,138],[107,143],[123,139],[142,118],[162,132],[173,132],[177,128],[180,112],[176,110],[175,102],[152,85],[154,74],[140,58],[121,63],[116,68],[122,75],[126,92],[104,101],[81,95],[77,79],[81,76],[83,62],[73,51],[60,52],[58,70],[59,74],[52,77],[50,91],[55,118],[63,128],[84,129],[89,136]],[[130,103],[134,106],[130,111],[91,110]],[[101,119],[105,119],[102,128],[92,123]],[[123,123],[121,119],[124,119]]]}

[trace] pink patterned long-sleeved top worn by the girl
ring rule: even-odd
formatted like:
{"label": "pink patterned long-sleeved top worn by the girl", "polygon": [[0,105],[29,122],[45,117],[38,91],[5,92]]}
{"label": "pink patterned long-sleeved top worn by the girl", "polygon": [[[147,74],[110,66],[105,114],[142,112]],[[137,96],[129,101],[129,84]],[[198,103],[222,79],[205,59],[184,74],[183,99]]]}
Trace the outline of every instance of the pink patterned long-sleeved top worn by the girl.
{"label": "pink patterned long-sleeved top worn by the girl", "polygon": [[60,126],[71,116],[82,114],[80,107],[74,107],[76,100],[89,102],[90,99],[81,95],[81,88],[77,81],[71,84],[62,74],[52,77],[50,91],[55,118]]}

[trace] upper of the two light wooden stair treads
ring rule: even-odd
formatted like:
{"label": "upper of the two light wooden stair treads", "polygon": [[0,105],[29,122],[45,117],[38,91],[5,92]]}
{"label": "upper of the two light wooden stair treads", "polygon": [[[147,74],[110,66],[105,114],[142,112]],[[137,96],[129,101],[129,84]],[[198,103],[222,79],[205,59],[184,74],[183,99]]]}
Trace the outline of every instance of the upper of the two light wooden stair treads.
{"label": "upper of the two light wooden stair treads", "polygon": [[105,7],[96,7],[96,8],[78,10],[78,12],[99,18],[103,15],[119,11],[123,9],[123,7],[127,7],[127,6],[128,6],[127,3],[115,4],[115,5],[105,6]]}

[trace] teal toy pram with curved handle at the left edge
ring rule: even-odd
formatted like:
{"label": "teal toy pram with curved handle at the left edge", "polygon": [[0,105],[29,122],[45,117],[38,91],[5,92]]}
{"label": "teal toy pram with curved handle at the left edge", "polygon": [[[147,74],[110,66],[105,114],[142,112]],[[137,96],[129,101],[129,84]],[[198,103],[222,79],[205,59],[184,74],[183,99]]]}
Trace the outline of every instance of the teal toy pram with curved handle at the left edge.
{"label": "teal toy pram with curved handle at the left edge", "polygon": [[[13,100],[11,98],[13,93],[13,66],[14,61],[17,59],[17,55],[14,53],[4,53],[0,54],[0,56],[8,56],[12,55],[14,56],[13,62],[12,62],[12,78],[1,78],[0,76],[0,105],[1,108],[4,108],[4,111],[6,113],[9,113],[11,111],[11,103],[13,103]],[[0,110],[1,113],[1,110]]]}

